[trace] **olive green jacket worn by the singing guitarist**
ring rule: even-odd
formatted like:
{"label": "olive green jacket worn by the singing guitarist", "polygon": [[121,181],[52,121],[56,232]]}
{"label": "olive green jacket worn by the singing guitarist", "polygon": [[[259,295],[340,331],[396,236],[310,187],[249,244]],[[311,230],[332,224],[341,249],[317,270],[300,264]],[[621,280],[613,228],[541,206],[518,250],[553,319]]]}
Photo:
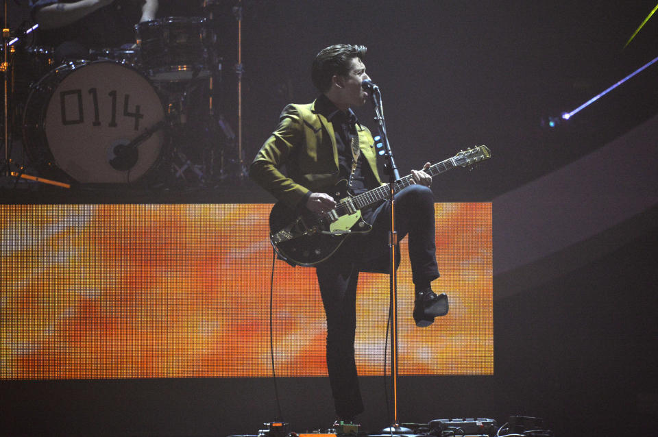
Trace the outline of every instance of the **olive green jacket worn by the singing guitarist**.
{"label": "olive green jacket worn by the singing guitarist", "polygon": [[[278,127],[249,167],[249,176],[258,185],[291,208],[297,207],[308,191],[326,192],[339,182],[334,129],[324,115],[316,112],[315,104],[287,105]],[[360,124],[356,128],[361,153],[381,184],[372,134]],[[280,171],[283,165],[287,175]]]}

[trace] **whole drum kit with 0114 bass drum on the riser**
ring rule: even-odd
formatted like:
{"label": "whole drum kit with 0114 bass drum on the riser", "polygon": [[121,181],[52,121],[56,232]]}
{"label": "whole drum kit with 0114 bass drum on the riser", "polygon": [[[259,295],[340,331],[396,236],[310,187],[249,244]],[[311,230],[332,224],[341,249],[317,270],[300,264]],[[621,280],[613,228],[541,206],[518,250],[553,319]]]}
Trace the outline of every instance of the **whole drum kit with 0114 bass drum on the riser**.
{"label": "whole drum kit with 0114 bass drum on the riser", "polygon": [[[5,42],[10,174],[165,188],[244,177],[241,144],[236,153],[236,135],[213,108],[222,62],[213,3],[204,2],[206,16],[139,23],[133,47],[90,51],[90,59],[61,65],[49,48]],[[21,138],[23,162],[12,160],[8,136]]]}

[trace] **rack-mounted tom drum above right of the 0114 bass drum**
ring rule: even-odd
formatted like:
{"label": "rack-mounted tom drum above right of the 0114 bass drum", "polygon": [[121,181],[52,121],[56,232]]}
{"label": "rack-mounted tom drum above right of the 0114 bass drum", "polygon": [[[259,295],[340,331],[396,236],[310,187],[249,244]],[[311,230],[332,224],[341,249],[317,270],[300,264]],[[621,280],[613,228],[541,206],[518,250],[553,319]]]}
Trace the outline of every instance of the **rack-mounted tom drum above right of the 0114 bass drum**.
{"label": "rack-mounted tom drum above right of the 0114 bass drum", "polygon": [[155,82],[208,77],[206,18],[169,17],[135,26],[141,68]]}

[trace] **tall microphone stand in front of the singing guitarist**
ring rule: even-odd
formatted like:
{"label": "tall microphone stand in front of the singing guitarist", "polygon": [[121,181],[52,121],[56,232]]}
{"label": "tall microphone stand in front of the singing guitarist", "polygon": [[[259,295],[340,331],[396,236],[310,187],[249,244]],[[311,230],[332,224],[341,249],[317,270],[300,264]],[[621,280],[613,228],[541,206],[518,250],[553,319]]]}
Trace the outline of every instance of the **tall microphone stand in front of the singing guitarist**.
{"label": "tall microphone stand in front of the singing guitarist", "polygon": [[[384,170],[389,175],[389,202],[391,203],[391,230],[389,232],[389,289],[391,296],[391,310],[389,318],[391,319],[391,378],[393,379],[393,423],[391,427],[385,428],[382,432],[390,434],[400,434],[411,432],[411,430],[400,427],[398,422],[398,273],[395,270],[395,248],[398,247],[398,233],[395,232],[395,183],[400,180],[398,166],[395,165],[393,150],[389,143],[389,137],[386,132],[386,122],[384,119],[384,109],[382,103],[382,93],[379,87],[373,85],[369,95],[375,109],[375,120],[379,125],[379,134],[384,145],[384,156],[386,162]],[[388,396],[388,395],[387,395]]]}

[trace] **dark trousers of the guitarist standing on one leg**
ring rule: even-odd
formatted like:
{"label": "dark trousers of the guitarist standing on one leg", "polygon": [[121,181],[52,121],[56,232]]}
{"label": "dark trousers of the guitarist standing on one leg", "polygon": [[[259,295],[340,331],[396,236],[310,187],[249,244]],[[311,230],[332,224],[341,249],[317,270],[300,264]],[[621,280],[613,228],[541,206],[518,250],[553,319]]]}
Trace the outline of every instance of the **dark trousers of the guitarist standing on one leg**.
{"label": "dark trousers of the guitarist standing on one leg", "polygon": [[[356,284],[358,273],[369,270],[368,262],[389,260],[390,203],[380,205],[371,220],[373,229],[368,234],[348,236],[332,258],[316,267],[327,317],[327,369],[340,419],[353,419],[363,412],[354,358]],[[430,188],[411,185],[395,195],[395,231],[399,240],[409,235],[414,284],[426,284],[439,277]]]}

